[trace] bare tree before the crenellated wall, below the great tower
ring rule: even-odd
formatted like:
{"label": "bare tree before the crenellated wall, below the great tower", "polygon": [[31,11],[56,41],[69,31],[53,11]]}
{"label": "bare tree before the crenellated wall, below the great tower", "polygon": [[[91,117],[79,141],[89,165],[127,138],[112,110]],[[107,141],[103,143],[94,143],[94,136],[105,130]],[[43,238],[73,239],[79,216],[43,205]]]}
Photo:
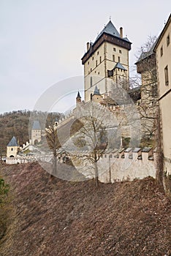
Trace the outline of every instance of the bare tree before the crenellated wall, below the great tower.
{"label": "bare tree before the crenellated wall, below the great tower", "polygon": [[[96,187],[99,186],[99,170],[97,162],[109,145],[109,132],[118,125],[113,113],[96,102],[79,105],[76,112],[83,123],[77,135],[77,145],[83,146],[80,155],[91,162],[94,167]],[[85,153],[86,152],[86,153]]]}

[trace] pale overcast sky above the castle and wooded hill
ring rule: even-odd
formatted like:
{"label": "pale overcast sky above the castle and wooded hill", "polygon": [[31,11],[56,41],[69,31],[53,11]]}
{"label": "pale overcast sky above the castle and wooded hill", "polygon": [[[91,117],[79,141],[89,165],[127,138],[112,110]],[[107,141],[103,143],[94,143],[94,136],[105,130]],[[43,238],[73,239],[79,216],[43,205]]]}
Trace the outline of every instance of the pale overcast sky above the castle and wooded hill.
{"label": "pale overcast sky above the castle and wooded hill", "polygon": [[60,91],[61,80],[83,75],[86,42],[94,42],[110,16],[132,42],[132,67],[134,54],[149,35],[159,35],[170,10],[170,0],[0,0],[0,113],[32,110],[50,86],[57,83]]}

